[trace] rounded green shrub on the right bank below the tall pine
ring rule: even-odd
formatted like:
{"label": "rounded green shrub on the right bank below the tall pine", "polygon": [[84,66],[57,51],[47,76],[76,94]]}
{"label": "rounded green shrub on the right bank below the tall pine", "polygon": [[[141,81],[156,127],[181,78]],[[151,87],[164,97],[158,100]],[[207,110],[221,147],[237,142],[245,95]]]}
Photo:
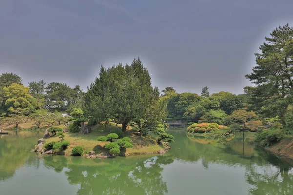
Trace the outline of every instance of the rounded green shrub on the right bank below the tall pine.
{"label": "rounded green shrub on the right bank below the tall pine", "polygon": [[255,143],[260,146],[271,146],[273,143],[280,141],[284,134],[281,130],[264,130],[256,132]]}

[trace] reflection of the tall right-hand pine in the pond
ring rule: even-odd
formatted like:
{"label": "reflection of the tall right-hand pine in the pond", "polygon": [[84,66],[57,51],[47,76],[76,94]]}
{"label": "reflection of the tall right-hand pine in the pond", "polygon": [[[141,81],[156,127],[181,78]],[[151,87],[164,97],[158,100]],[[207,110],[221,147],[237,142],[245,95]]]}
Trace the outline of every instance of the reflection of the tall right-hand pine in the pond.
{"label": "reflection of the tall right-hand pine in the pond", "polygon": [[254,186],[250,189],[250,194],[262,195],[266,192],[266,195],[292,195],[292,166],[268,153],[261,154],[258,160],[263,166],[259,167],[255,163],[246,167],[246,180]]}

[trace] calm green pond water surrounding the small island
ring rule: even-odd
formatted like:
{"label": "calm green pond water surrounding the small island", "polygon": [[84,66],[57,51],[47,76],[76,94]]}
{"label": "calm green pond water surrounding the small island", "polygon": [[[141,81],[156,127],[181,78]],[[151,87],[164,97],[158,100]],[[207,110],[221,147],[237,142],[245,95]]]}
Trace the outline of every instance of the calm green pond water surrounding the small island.
{"label": "calm green pond water surrounding the small island", "polygon": [[43,133],[0,136],[0,195],[293,195],[293,166],[250,144],[172,129],[165,155],[114,159],[29,152]]}

